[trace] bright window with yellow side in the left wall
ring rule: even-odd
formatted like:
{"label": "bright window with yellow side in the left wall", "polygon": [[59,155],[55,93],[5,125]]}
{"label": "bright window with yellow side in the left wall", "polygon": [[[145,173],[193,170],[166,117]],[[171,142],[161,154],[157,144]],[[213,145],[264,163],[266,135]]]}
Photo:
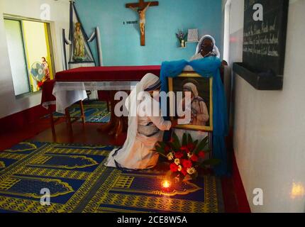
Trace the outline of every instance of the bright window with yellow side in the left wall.
{"label": "bright window with yellow side in the left wall", "polygon": [[54,74],[50,24],[4,18],[4,25],[15,95],[40,91]]}

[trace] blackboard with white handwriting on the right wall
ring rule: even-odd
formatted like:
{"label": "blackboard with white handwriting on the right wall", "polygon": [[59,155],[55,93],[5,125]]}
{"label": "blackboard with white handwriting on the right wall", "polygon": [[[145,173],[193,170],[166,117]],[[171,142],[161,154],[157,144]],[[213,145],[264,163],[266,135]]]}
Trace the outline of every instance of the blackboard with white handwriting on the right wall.
{"label": "blackboard with white handwriting on the right wall", "polygon": [[[255,4],[263,6],[263,21],[255,21]],[[255,73],[284,74],[289,0],[245,0],[243,64]]]}

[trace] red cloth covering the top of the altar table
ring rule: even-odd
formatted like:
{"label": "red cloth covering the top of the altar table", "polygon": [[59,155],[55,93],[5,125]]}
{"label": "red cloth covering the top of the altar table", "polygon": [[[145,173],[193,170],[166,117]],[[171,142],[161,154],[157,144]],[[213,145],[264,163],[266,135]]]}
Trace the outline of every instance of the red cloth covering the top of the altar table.
{"label": "red cloth covering the top of the altar table", "polygon": [[57,72],[55,79],[58,82],[140,81],[149,72],[159,77],[160,70],[160,65],[79,67]]}

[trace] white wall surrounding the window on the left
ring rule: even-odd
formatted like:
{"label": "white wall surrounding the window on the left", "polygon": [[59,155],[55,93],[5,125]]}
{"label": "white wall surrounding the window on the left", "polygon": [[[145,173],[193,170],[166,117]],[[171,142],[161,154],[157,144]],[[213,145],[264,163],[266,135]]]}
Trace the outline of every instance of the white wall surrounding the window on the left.
{"label": "white wall surrounding the window on the left", "polygon": [[50,5],[52,43],[54,46],[55,70],[62,70],[61,29],[69,28],[68,0],[0,0],[0,118],[40,104],[41,93],[16,99],[13,92],[11,66],[6,45],[4,14],[40,19],[40,6]]}

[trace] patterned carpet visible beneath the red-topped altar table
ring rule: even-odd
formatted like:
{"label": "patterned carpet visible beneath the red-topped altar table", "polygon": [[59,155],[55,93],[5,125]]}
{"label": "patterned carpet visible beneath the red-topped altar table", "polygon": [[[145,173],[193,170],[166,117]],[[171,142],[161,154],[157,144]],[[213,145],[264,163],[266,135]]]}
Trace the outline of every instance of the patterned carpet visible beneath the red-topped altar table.
{"label": "patterned carpet visible beneath the red-topped altar table", "polygon": [[[71,116],[80,116],[80,108],[79,104],[74,104],[69,108]],[[64,116],[64,114],[60,114],[55,112],[54,117]],[[110,119],[110,113],[107,111],[106,102],[101,101],[87,101],[84,102],[84,115],[86,118],[86,122],[89,123],[106,123]],[[43,116],[43,118],[47,118],[49,115]],[[79,120],[81,121],[81,120]]]}

